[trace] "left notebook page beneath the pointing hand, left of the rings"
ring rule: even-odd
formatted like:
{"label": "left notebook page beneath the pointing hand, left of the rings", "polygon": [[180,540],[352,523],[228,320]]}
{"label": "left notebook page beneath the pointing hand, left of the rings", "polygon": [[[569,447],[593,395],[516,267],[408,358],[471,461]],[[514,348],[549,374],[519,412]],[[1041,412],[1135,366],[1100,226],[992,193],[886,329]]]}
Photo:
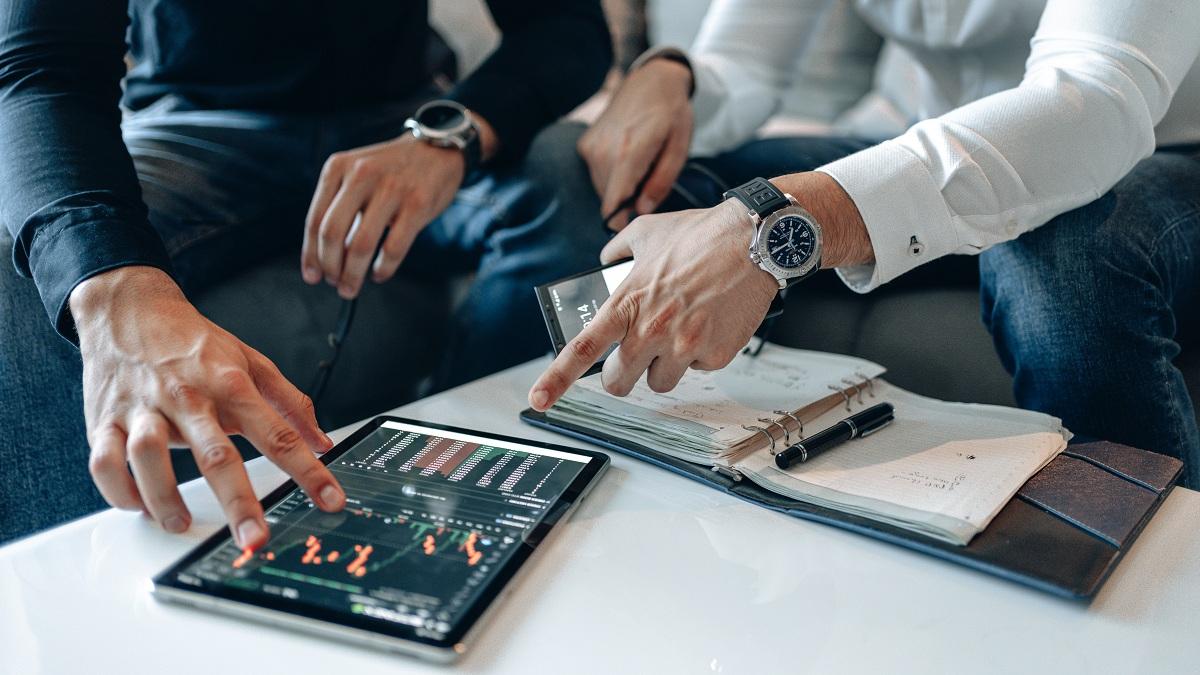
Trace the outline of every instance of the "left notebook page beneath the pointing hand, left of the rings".
{"label": "left notebook page beneath the pointing hand, left of the rings", "polygon": [[628,396],[614,399],[604,390],[600,375],[578,381],[564,399],[599,405],[600,396],[619,401],[622,413],[659,423],[676,419],[698,425],[710,441],[731,447],[755,436],[743,425],[762,425],[760,418],[779,418],[776,410],[796,411],[833,394],[829,384],[848,387],[877,377],[883,366],[840,354],[767,345],[757,357],[738,354],[722,370],[689,370],[679,384],[658,394],[642,378]]}

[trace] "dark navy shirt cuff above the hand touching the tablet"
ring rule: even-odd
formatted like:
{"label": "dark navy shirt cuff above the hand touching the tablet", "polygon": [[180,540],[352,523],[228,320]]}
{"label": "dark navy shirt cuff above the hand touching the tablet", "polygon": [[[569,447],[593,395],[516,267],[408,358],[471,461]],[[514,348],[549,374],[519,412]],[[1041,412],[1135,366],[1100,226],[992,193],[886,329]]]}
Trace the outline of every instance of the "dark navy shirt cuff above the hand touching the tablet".
{"label": "dark navy shirt cuff above the hand touching the tablet", "polygon": [[[29,270],[46,313],[62,338],[78,345],[67,300],[74,287],[97,274],[126,265],[148,265],[170,274],[170,258],[162,239],[149,225],[128,220],[86,220],[91,209],[62,215],[38,231],[29,253]],[[104,210],[106,216],[110,213]]]}

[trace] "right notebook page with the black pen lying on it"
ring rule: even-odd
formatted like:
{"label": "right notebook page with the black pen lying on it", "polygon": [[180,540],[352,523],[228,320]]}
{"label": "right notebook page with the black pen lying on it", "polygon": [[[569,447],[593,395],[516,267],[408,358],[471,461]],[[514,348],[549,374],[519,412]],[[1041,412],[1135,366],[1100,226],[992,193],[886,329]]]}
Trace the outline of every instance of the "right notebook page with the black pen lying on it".
{"label": "right notebook page with the black pen lying on it", "polygon": [[[782,471],[767,453],[740,460],[739,470],[770,489],[823,506],[883,515],[966,534],[966,543],[1016,490],[1067,443],[1060,420],[998,406],[949,404],[876,382],[876,398],[895,406],[896,419],[866,438],[848,441]],[[811,425],[826,429],[846,416],[838,407]],[[948,533],[949,534],[949,533]]]}

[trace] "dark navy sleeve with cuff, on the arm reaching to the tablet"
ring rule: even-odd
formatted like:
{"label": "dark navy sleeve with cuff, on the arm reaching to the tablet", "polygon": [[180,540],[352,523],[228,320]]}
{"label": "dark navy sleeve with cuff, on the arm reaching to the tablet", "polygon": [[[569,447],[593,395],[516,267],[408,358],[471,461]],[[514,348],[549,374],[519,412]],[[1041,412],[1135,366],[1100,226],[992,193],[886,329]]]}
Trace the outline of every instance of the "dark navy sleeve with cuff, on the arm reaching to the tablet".
{"label": "dark navy sleeve with cuff, on the arm reaching to the tablet", "polygon": [[169,269],[121,139],[125,0],[0,4],[0,221],[59,333],[80,281]]}

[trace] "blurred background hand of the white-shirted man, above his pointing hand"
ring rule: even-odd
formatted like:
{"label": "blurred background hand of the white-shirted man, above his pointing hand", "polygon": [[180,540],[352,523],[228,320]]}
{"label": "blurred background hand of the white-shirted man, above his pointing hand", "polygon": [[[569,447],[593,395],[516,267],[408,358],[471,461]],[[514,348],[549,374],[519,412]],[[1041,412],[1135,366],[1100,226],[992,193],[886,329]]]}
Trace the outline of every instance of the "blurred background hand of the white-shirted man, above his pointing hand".
{"label": "blurred background hand of the white-shirted man, above his pointing hand", "polygon": [[[604,217],[634,196],[638,214],[654,211],[667,198],[691,144],[690,89],[686,66],[653,59],[625,78],[600,119],[580,137],[580,156],[592,173]],[[629,217],[623,211],[610,227],[620,231]]]}

